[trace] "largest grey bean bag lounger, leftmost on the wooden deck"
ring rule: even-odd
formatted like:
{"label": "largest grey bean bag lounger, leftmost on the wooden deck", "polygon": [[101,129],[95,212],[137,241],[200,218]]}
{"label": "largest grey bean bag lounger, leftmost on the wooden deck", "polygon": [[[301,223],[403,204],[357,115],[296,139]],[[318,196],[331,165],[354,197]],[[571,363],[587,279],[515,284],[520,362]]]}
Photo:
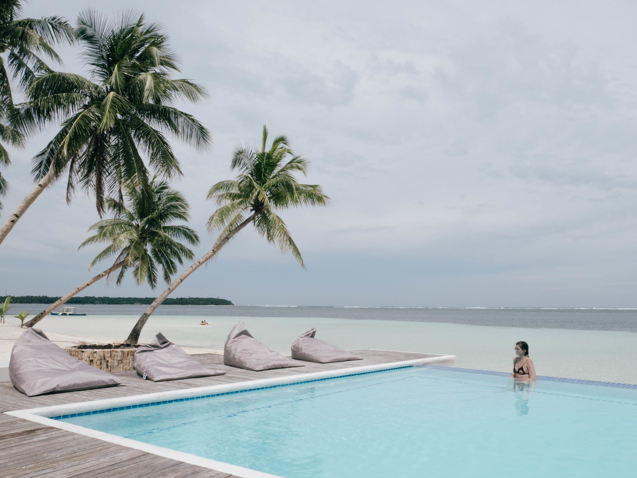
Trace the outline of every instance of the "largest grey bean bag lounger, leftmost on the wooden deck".
{"label": "largest grey bean bag lounger, leftmost on the wooden deck", "polygon": [[69,355],[37,328],[27,328],[13,344],[9,377],[13,386],[29,397],[111,387],[121,383],[108,372]]}

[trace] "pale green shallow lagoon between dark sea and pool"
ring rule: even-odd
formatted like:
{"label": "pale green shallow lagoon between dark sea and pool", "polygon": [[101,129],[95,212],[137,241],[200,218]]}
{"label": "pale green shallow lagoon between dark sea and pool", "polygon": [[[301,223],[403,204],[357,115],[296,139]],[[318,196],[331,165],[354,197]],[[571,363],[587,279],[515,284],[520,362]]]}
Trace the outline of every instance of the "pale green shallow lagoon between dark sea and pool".
{"label": "pale green shallow lagoon between dark sea and pool", "polygon": [[[214,309],[221,312],[226,308]],[[123,340],[137,318],[48,316],[39,325],[60,334]],[[211,325],[199,325],[202,319]],[[222,348],[228,332],[240,319],[257,339],[287,355],[297,335],[316,327],[318,338],[344,349],[450,354],[457,356],[457,367],[507,372],[512,368],[513,345],[524,340],[529,342],[531,358],[540,375],[637,384],[637,369],[629,366],[637,363],[637,332],[397,320],[155,315],[143,329],[141,341],[150,341],[154,334],[162,332],[183,346]]]}

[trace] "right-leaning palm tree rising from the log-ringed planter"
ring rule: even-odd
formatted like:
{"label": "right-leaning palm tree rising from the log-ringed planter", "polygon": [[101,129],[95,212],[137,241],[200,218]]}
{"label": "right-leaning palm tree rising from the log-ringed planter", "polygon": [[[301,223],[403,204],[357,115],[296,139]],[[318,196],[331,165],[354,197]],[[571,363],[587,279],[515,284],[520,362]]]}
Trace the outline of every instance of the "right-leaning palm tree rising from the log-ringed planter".
{"label": "right-leaning palm tree rising from the log-ringed planter", "polygon": [[208,230],[212,232],[220,229],[221,234],[208,253],[190,265],[148,306],[125,343],[136,344],[146,321],[166,297],[192,272],[215,257],[234,235],[250,223],[268,243],[276,244],[282,252],[291,251],[294,258],[305,269],[299,249],[275,210],[289,207],[327,206],[330,199],[324,195],[321,186],[298,183],[294,173],[306,174],[310,162],[292,153],[287,137],[276,137],[269,150],[266,149],[267,141],[268,129],[264,125],[261,150],[249,146],[235,148],[231,170],[238,169],[239,176],[233,180],[215,184],[208,191],[206,198],[220,206],[208,219]]}

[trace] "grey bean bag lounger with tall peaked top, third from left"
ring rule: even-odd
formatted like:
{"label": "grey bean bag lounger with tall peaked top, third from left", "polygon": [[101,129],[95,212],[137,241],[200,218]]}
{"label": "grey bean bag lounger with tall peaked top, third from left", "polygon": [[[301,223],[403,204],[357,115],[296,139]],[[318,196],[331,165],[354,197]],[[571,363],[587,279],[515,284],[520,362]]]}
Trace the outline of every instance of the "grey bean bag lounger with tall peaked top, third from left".
{"label": "grey bean bag lounger with tall peaked top, third from left", "polygon": [[257,341],[239,321],[225,339],[224,363],[240,369],[261,370],[284,369],[285,367],[303,367],[302,363],[294,362],[280,353],[270,350]]}

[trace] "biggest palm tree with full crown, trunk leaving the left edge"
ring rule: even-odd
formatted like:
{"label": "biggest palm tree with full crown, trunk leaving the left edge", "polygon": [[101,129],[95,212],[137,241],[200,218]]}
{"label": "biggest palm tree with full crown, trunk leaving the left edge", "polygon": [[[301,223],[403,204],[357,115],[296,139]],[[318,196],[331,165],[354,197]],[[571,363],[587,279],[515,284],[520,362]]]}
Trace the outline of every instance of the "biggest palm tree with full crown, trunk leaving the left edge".
{"label": "biggest palm tree with full crown, trunk leaving the left edge", "polygon": [[32,81],[29,102],[20,109],[24,123],[34,129],[59,119],[62,129],[34,157],[38,184],[0,229],[0,243],[65,171],[67,202],[79,185],[94,193],[101,217],[108,195],[121,199],[129,183],[148,189],[149,168],[164,179],[182,174],[166,134],[199,150],[211,144],[208,130],[173,106],[181,99],[201,102],[207,94],[190,80],[171,78],[179,61],[159,24],[132,12],[113,22],[86,10],[76,34],[90,79],[50,72]]}

